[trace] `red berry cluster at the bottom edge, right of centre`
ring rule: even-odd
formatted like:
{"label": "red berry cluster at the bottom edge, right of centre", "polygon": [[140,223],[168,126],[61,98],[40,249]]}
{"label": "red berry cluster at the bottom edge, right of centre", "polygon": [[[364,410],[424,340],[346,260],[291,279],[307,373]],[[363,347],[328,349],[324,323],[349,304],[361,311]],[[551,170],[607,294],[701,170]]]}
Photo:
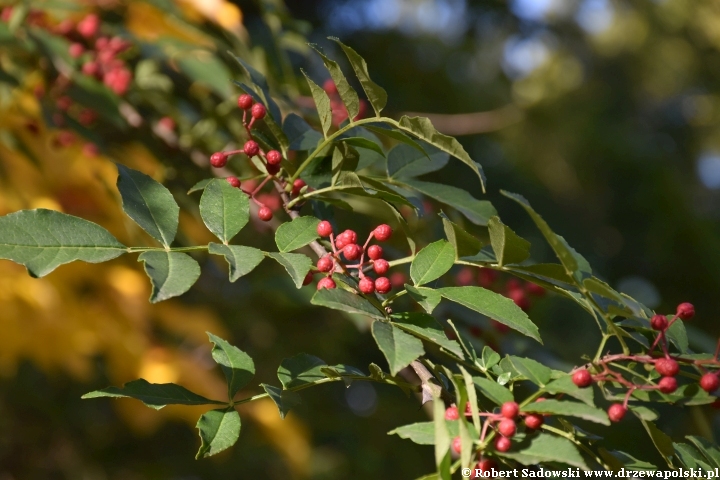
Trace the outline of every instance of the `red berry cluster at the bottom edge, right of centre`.
{"label": "red berry cluster at the bottom edge, right of centre", "polygon": [[[543,401],[544,398],[538,398],[536,401]],[[471,415],[470,404],[465,405],[465,416]],[[537,413],[521,413],[520,406],[515,402],[505,402],[500,407],[500,412],[481,412],[480,416],[485,417],[482,432],[480,433],[480,443],[485,441],[489,429],[494,429],[498,435],[495,437],[493,448],[498,452],[507,452],[512,447],[512,437],[517,432],[517,421],[523,418],[525,429],[529,432],[538,430],[545,419]],[[449,406],[445,410],[445,420],[458,420],[460,412],[455,405]],[[461,441],[460,437],[455,437],[452,442],[452,448],[456,453],[460,453]],[[497,468],[494,461],[488,459],[480,459],[476,469],[486,471],[490,468]]]}

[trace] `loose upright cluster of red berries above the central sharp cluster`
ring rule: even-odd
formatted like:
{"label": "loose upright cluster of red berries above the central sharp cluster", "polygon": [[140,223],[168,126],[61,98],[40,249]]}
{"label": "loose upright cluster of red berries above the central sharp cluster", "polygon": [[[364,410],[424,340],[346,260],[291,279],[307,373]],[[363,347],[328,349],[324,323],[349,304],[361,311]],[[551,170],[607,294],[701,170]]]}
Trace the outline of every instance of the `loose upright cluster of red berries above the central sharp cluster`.
{"label": "loose upright cluster of red berries above the central sharp cluster", "polygon": [[[257,204],[257,206],[259,207],[258,218],[264,222],[267,222],[273,218],[273,208],[271,207],[279,207],[279,204],[271,205],[267,200],[264,201],[263,195],[259,194],[263,187],[269,181],[274,180],[278,182],[285,189],[285,191],[293,197],[297,197],[299,194],[305,193],[307,191],[307,185],[303,180],[299,178],[295,180],[292,185],[290,185],[285,181],[284,178],[278,176],[282,168],[282,153],[277,150],[270,150],[268,152],[265,152],[254,140],[252,129],[255,125],[255,122],[262,120],[267,115],[267,110],[265,109],[265,106],[262,103],[255,103],[252,96],[248,94],[240,95],[238,97],[237,104],[238,107],[243,111],[243,126],[245,127],[249,140],[245,142],[243,148],[240,150],[230,150],[213,153],[210,156],[210,165],[212,165],[214,168],[223,168],[225,167],[225,165],[227,165],[228,159],[231,155],[239,153],[245,154],[248,158],[260,158],[265,168],[265,171],[267,172],[267,175],[265,176],[263,181],[260,182],[259,185],[255,186],[254,182],[246,182],[246,186],[249,188],[245,190],[241,188],[242,182],[239,178],[235,176],[229,176],[227,177],[227,181],[233,187],[240,188],[246,195],[248,195],[248,197],[250,197],[253,202]],[[248,113],[250,116],[249,121]],[[252,185],[252,187],[250,187],[250,185]],[[268,199],[267,196],[264,198]],[[276,203],[273,200],[270,201]]]}

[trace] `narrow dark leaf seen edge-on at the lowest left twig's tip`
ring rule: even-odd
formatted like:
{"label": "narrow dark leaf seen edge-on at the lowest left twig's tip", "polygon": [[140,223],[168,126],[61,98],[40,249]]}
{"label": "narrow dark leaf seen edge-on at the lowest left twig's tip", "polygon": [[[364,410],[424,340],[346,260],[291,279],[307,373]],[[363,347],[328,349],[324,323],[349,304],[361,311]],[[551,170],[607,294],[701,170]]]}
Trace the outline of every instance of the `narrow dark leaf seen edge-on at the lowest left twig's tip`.
{"label": "narrow dark leaf seen edge-on at the lowest left twig's tip", "polygon": [[134,398],[155,410],[165,405],[224,405],[225,402],[210,400],[174,383],[150,383],[142,378],[128,382],[122,387],[108,387],[86,393],[84,399],[113,397]]}

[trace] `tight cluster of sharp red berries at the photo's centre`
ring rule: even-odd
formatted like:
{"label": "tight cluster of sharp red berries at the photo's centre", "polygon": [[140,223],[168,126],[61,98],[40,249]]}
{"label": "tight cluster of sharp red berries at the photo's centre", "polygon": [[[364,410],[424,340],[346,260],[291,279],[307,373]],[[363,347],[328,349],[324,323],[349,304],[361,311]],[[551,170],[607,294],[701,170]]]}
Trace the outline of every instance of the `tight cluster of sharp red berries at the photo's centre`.
{"label": "tight cluster of sharp red berries at the photo's centre", "polygon": [[[326,274],[318,284],[318,290],[323,288],[333,289],[337,285],[332,279],[334,272],[342,272],[349,275],[349,269],[357,269],[358,272],[358,290],[365,295],[372,295],[377,292],[386,294],[392,290],[393,284],[385,274],[390,269],[390,263],[383,257],[383,249],[380,245],[370,245],[370,241],[374,238],[379,242],[385,242],[392,236],[392,228],[389,225],[382,224],[368,235],[365,244],[360,246],[357,243],[357,233],[353,230],[345,230],[335,236],[330,222],[323,220],[317,227],[318,235],[323,238],[329,238],[332,253],[328,253],[317,261],[318,272]],[[365,260],[367,254],[368,260]],[[344,261],[343,261],[344,259]],[[349,264],[349,262],[357,262]],[[379,277],[373,279],[365,275],[366,270],[374,270]],[[313,272],[308,273],[305,278],[305,284],[312,281]]]}

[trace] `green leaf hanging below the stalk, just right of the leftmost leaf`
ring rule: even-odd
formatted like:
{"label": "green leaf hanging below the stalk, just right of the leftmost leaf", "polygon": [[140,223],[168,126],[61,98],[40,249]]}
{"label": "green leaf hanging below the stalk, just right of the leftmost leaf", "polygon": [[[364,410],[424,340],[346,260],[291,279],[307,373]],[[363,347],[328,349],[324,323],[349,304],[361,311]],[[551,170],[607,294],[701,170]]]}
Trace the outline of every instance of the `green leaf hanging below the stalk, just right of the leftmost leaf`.
{"label": "green leaf hanging below the stalk, just right of the leftmost leaf", "polygon": [[190,290],[200,276],[200,265],[186,253],[143,252],[138,261],[145,262],[145,273],[152,283],[152,303],[182,295]]}

